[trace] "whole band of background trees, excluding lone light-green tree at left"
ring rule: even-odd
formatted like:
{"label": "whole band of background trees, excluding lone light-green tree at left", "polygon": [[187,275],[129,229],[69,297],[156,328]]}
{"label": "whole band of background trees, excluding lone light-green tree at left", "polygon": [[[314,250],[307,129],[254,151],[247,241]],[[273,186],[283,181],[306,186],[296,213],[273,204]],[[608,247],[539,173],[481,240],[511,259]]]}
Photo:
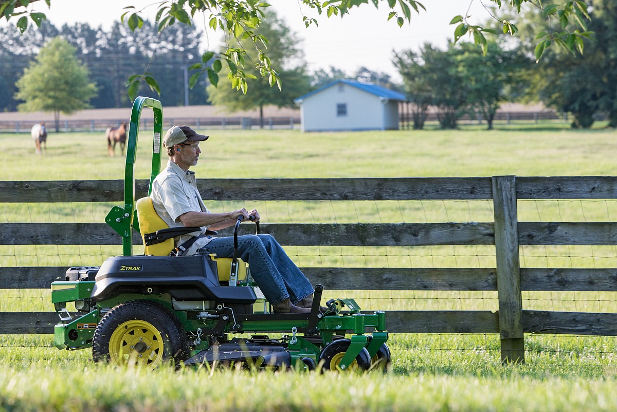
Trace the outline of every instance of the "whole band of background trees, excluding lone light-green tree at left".
{"label": "whole band of background trees, excluding lone light-green tree at left", "polygon": [[[187,87],[193,75],[188,68],[202,61],[203,52],[203,35],[193,26],[173,25],[162,35],[147,21],[135,32],[119,22],[109,31],[85,23],[57,29],[43,22],[39,30],[28,30],[23,35],[13,27],[4,27],[0,29],[0,110],[17,109],[20,102],[15,99],[15,83],[23,69],[50,39],[62,36],[76,47],[77,58],[89,69],[89,80],[96,82],[97,96],[89,102],[95,108],[130,105],[126,80],[143,72],[151,73],[159,82],[165,105],[213,102],[231,110],[260,111],[268,104],[295,107],[294,99],[302,94],[347,78],[371,81],[407,94],[416,129],[424,127],[429,107],[437,109],[442,128],[456,128],[464,115],[482,117],[491,128],[503,102],[543,102],[557,112],[571,113],[576,128],[589,128],[599,117],[617,127],[617,2],[594,0],[592,4],[593,19],[588,28],[593,39],[578,45],[584,49],[582,56],[572,54],[568,47],[558,47],[545,51],[536,62],[534,36],[539,30],[549,33],[557,43],[574,39],[561,38],[560,22],[547,21],[542,10],[532,9],[518,24],[517,35],[495,36],[487,44],[486,55],[473,43],[462,40],[446,49],[424,44],[418,51],[395,53],[393,62],[402,84],[365,67],[355,73],[336,67],[309,73],[301,40],[276,15],[268,15],[256,33],[271,39],[268,53],[273,67],[280,68],[283,91],[271,88],[255,71],[257,80],[249,83],[246,95],[228,85],[207,88],[206,75],[200,76],[193,88]],[[246,70],[248,73],[252,69]],[[138,94],[159,97],[145,84]]]}

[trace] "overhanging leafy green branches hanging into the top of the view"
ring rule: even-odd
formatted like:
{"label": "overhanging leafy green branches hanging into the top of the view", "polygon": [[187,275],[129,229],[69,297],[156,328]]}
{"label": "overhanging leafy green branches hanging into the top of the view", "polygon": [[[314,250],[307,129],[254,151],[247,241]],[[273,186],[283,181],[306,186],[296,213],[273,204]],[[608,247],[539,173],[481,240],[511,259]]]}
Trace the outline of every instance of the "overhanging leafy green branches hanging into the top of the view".
{"label": "overhanging leafy green branches hanging into the top of the view", "polygon": [[[20,16],[17,21],[17,28],[20,31],[25,31],[28,27],[28,17],[36,25],[41,23],[45,15],[38,11],[28,10],[27,6],[36,3],[38,0],[0,0],[0,18],[6,17],[8,20],[13,16]],[[473,1],[473,0],[471,0]],[[493,4],[499,6],[498,9],[504,7],[507,10],[514,9],[516,13],[521,12],[521,6],[531,5],[533,7],[542,7],[542,3],[537,0],[490,0]],[[51,0],[45,0],[49,5]],[[549,47],[563,47],[571,51],[582,52],[583,39],[588,38],[590,33],[586,28],[586,20],[589,19],[587,7],[589,0],[568,0],[561,1],[560,4],[549,4],[544,7],[543,12],[545,18],[558,17],[562,30],[559,32],[539,33],[537,41],[539,41],[539,49],[536,50],[536,56],[540,57],[545,49]],[[327,17],[350,14],[357,7],[365,4],[373,4],[375,7],[386,5],[392,11],[388,16],[388,20],[394,20],[399,26],[402,26],[407,20],[411,21],[412,9],[415,12],[420,12],[424,9],[421,2],[416,0],[331,0],[322,2],[321,0],[302,0],[301,4],[305,8],[317,10],[321,15],[326,12]],[[185,25],[192,25],[194,21],[201,19],[207,20],[210,30],[222,30],[226,35],[226,49],[215,54],[210,51],[202,54],[202,62],[193,65],[192,68],[199,69],[201,72],[207,73],[210,81],[215,86],[218,83],[219,66],[224,63],[227,66],[227,77],[233,88],[242,90],[246,93],[247,73],[245,72],[244,63],[251,62],[251,68],[255,68],[257,72],[268,79],[270,86],[275,84],[281,86],[281,79],[278,76],[278,68],[271,64],[270,54],[267,51],[268,38],[257,33],[260,24],[265,21],[264,10],[270,5],[267,2],[259,2],[256,0],[170,0],[160,2],[157,11],[156,23],[159,30],[165,30],[176,22]],[[466,6],[463,6],[463,9]],[[122,15],[122,19],[126,19],[131,30],[136,30],[143,27],[144,19],[141,17],[143,10],[136,10],[130,4],[125,7],[128,9]],[[474,25],[470,22],[470,16],[460,14],[453,17],[451,24],[456,25],[454,29],[454,39],[458,41],[467,35],[473,42],[482,47],[486,51],[487,39],[485,33],[495,33],[490,28],[481,25]],[[500,19],[494,16],[494,20],[499,22],[502,32],[510,35],[518,31],[515,23],[510,20]],[[302,21],[309,27],[317,25],[317,19],[309,18],[303,15]],[[238,49],[231,46],[233,39],[249,40],[252,46],[257,51],[257,59],[247,59],[246,49]],[[218,61],[218,64],[213,64],[210,60]],[[218,68],[218,70],[217,70]],[[199,73],[193,77],[194,84],[199,77]],[[151,73],[141,73],[130,77],[129,94],[131,99],[136,96],[139,90],[139,84],[144,81],[153,90],[158,91],[159,86],[157,81],[152,77]]]}

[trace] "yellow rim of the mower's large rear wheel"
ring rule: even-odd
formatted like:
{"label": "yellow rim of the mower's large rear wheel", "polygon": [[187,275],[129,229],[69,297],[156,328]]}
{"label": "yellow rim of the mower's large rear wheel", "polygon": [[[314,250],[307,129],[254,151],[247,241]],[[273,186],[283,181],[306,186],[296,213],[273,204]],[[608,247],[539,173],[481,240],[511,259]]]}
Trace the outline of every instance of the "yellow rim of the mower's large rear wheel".
{"label": "yellow rim of the mower's large rear wheel", "polygon": [[152,324],[142,320],[126,321],[109,339],[109,358],[115,365],[154,368],[163,359],[163,338]]}

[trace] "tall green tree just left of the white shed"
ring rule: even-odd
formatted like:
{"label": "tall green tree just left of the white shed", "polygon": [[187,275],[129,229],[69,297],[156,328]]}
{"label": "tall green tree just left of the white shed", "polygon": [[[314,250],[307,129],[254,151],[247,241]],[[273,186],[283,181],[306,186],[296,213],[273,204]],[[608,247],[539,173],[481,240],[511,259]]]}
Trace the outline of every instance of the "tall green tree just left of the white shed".
{"label": "tall green tree just left of the white shed", "polygon": [[[233,93],[230,86],[215,88],[209,86],[210,101],[222,105],[232,111],[259,109],[259,126],[263,128],[263,106],[296,107],[294,99],[310,91],[310,77],[306,73],[304,55],[300,49],[300,41],[289,27],[276,15],[267,14],[267,20],[255,31],[258,35],[267,36],[268,52],[272,64],[280,67],[278,76],[287,86],[284,89],[272,88],[268,81],[259,76],[257,69],[247,69],[246,75],[255,77],[255,81],[245,94]],[[236,44],[240,47],[241,44]],[[254,58],[257,51],[248,52],[249,58]]]}

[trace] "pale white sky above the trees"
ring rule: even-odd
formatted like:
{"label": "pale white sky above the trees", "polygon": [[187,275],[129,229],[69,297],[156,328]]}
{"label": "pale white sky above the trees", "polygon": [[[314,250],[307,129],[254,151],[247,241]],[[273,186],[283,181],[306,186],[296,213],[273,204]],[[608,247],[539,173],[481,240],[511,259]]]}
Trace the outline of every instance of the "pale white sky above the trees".
{"label": "pale white sky above the trees", "polygon": [[[318,27],[313,25],[305,28],[302,22],[299,2],[297,0],[268,0],[273,9],[282,17],[297,36],[302,39],[305,60],[309,70],[335,67],[348,75],[355,73],[360,67],[366,67],[374,72],[385,72],[398,79],[397,71],[392,65],[393,51],[418,49],[424,43],[445,47],[447,39],[453,38],[454,26],[450,20],[455,15],[471,15],[474,23],[489,19],[490,15],[482,6],[482,1],[489,0],[421,0],[426,12],[420,14],[412,11],[412,21],[405,21],[400,28],[394,19],[387,21],[390,11],[387,2],[379,9],[372,4],[352,10],[344,18],[326,17],[325,13],[318,16],[313,10],[303,7],[305,14],[318,19]],[[147,7],[143,17],[154,20],[157,11],[157,0],[52,0],[51,9],[44,1],[31,3],[30,8],[44,12],[48,20],[57,27],[64,23],[86,22],[93,27],[111,27],[114,20],[120,20],[125,12],[123,7],[133,4],[138,9]],[[371,3],[371,2],[370,2]],[[469,12],[468,12],[469,10]],[[17,20],[17,19],[14,19]],[[11,22],[15,23],[13,20]],[[209,41],[210,48],[220,44],[218,35],[204,38],[203,44]]]}

